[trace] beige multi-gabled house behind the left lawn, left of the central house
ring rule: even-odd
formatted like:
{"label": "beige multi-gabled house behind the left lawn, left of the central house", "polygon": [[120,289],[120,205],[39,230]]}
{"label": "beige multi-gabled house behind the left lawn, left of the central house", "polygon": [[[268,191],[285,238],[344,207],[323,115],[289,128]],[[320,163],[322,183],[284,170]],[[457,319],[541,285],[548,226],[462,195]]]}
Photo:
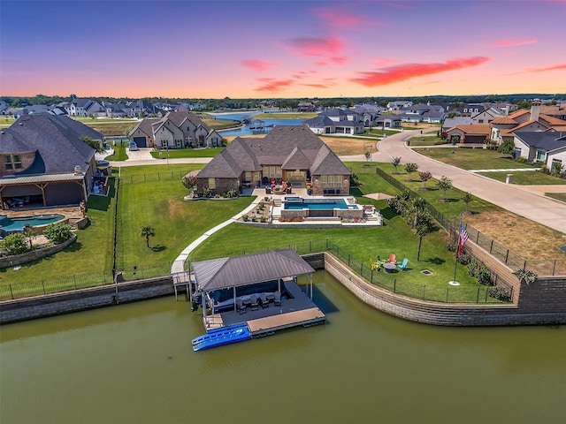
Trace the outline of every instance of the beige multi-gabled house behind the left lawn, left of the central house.
{"label": "beige multi-gabled house behind the left lawn, left of the central house", "polygon": [[128,133],[139,148],[220,148],[222,137],[187,111],[170,111],[162,118],[146,118]]}

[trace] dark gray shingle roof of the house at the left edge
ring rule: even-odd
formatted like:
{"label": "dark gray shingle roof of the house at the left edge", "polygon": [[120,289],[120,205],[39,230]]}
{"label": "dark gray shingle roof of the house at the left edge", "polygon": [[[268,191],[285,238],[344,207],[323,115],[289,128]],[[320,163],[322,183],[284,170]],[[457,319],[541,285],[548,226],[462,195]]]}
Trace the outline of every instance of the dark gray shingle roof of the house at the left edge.
{"label": "dark gray shingle roof of the house at the left edge", "polygon": [[96,153],[80,140],[85,136],[103,140],[101,133],[70,117],[48,113],[25,115],[0,134],[0,151],[36,152],[35,162],[16,175],[73,172],[75,165],[86,169]]}

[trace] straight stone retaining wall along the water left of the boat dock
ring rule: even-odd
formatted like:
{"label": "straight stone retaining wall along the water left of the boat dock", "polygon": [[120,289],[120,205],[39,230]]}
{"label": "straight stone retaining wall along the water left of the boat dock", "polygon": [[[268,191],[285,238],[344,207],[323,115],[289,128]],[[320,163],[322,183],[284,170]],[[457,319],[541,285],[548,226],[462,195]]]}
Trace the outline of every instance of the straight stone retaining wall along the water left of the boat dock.
{"label": "straight stone retaining wall along the water left of the boat dock", "polygon": [[[118,288],[118,296],[116,291]],[[171,276],[2,302],[0,324],[158,298],[174,293]]]}

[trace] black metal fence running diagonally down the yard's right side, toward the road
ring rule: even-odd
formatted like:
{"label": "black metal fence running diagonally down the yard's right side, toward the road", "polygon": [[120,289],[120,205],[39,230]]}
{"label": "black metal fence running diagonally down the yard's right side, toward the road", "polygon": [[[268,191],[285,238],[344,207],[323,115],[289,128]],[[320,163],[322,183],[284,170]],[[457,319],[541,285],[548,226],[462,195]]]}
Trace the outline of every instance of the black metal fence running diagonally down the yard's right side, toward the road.
{"label": "black metal fence running diagonally down the yard's right side, toward the road", "polygon": [[[396,178],[376,167],[376,173],[379,177],[385,179],[389,184],[401,191],[407,191],[411,198],[422,198],[417,192],[409,189],[409,187],[402,184]],[[456,234],[459,231],[459,221],[457,217],[448,217],[440,213],[437,208],[434,208],[428,201],[425,201],[426,209],[431,216],[444,227],[450,234]],[[478,231],[470,224],[466,224],[466,231],[468,231],[469,240],[476,245],[482,247],[484,250],[492,254],[499,261],[506,264],[510,269],[525,269],[530,270],[538,276],[566,276],[566,260],[526,260],[518,254],[511,252],[508,248],[502,246],[497,241],[486,236],[486,234]]]}

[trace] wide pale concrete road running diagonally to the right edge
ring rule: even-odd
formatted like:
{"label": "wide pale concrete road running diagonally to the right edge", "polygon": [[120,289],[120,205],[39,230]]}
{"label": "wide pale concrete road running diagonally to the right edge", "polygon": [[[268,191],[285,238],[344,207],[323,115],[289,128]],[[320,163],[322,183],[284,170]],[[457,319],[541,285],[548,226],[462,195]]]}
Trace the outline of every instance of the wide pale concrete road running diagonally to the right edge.
{"label": "wide pale concrete road running diagonally to the right edge", "polygon": [[[402,158],[402,163],[417,163],[419,170],[430,171],[434,178],[440,178],[443,175],[450,178],[454,186],[464,192],[470,192],[494,205],[515,212],[517,215],[566,233],[566,204],[562,201],[548,199],[539,191],[529,191],[528,187],[501,183],[419,155],[404,143],[404,140],[417,134],[420,134],[420,131],[398,133],[386,137],[379,141],[379,152],[371,155],[371,160],[390,163],[394,156],[399,156]],[[547,187],[548,192],[561,190],[555,186]],[[566,192],[566,186],[562,186],[562,192]]]}

